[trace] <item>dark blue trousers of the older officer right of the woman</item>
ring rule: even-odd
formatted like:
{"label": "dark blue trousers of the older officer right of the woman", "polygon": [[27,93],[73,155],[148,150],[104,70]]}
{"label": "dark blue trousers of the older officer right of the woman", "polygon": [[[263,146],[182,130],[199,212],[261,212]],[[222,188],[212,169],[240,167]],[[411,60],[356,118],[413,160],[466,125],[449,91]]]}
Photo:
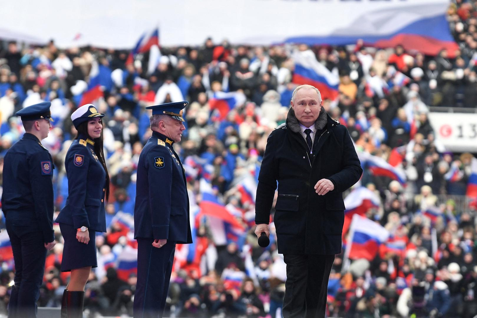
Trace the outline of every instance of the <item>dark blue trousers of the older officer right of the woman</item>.
{"label": "dark blue trousers of the older officer right of the woman", "polygon": [[176,242],[167,241],[161,248],[152,242],[152,238],[137,238],[134,318],[162,318],[166,306]]}

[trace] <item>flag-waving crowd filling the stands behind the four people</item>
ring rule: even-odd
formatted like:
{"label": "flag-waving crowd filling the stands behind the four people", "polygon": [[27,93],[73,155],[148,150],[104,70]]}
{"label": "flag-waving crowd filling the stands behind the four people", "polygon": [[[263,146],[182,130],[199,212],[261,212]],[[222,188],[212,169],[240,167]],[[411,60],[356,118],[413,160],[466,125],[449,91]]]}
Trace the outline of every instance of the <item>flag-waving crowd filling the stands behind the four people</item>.
{"label": "flag-waving crowd filling the stands behind the four people", "polygon": [[[323,107],[348,127],[358,152],[390,162],[406,180],[365,169],[361,185],[376,195],[378,204],[363,214],[384,226],[402,248],[380,246],[372,259],[353,260],[349,266],[344,253],[337,256],[329,283],[332,317],[477,314],[476,209],[465,197],[476,159],[447,152],[436,143],[427,119],[429,106],[477,106],[474,3],[456,0],[448,19],[459,51],[438,56],[400,46],[377,50],[360,42],[299,47],[312,50],[318,62],[339,74],[338,100],[326,99]],[[0,163],[21,138],[21,122],[14,113],[52,101],[55,122],[43,144],[55,165],[55,215],[67,195],[63,161],[75,136],[70,115],[80,106],[92,65],[98,63],[103,97],[95,106],[106,114],[104,147],[113,191],[106,205],[108,231],[96,238],[98,267],[86,286],[88,317],[132,315],[136,275],[121,262],[134,256],[128,220],[134,212],[136,164],[151,134],[145,106],[181,100],[190,101],[187,136],[176,146],[187,166],[195,243],[177,247],[166,315],[275,317],[284,295],[285,264],[273,234],[270,247],[258,246],[253,195],[247,197],[246,190],[256,183],[268,135],[286,120],[297,86],[290,59],[294,49],[230,46],[207,39],[201,47],[161,48],[159,63],[148,72],[148,52],[128,61],[129,51],[60,50],[53,41],[46,46],[0,46]],[[243,92],[246,101],[223,115],[209,103],[218,92]],[[244,230],[205,217],[203,191],[216,195]],[[0,314],[7,312],[14,268],[4,248],[8,236],[3,228]],[[58,243],[46,260],[39,306],[59,307],[68,282],[69,273],[59,271],[62,237],[55,228]],[[344,239],[349,244],[350,238]]]}

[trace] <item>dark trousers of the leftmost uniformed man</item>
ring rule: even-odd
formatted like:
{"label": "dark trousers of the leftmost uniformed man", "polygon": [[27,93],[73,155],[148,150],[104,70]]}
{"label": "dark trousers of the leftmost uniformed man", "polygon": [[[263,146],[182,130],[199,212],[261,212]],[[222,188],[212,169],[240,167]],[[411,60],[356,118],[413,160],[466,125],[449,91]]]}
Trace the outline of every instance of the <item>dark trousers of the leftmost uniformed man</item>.
{"label": "dark trousers of the leftmost uniformed man", "polygon": [[15,285],[8,305],[9,318],[36,317],[36,302],[45,274],[46,248],[42,232],[6,222],[15,262]]}

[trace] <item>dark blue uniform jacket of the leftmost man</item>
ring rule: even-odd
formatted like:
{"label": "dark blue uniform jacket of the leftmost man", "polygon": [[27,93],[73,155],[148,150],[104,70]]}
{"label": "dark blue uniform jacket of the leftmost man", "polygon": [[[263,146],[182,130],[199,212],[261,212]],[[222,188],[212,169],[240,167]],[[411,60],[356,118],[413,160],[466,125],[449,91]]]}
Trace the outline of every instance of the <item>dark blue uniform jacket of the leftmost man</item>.
{"label": "dark blue uniform jacket of the leftmost man", "polygon": [[8,150],[3,161],[1,205],[7,222],[24,233],[41,231],[43,242],[52,242],[53,161],[38,138],[25,133]]}

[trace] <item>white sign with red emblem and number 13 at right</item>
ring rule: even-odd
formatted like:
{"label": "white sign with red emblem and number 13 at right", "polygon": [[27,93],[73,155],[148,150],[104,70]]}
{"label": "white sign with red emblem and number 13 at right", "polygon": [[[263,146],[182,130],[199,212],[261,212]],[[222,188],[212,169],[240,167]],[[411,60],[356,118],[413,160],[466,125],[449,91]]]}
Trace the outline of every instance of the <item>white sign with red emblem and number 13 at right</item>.
{"label": "white sign with red emblem and number 13 at right", "polygon": [[429,121],[447,150],[477,152],[476,113],[429,113]]}

